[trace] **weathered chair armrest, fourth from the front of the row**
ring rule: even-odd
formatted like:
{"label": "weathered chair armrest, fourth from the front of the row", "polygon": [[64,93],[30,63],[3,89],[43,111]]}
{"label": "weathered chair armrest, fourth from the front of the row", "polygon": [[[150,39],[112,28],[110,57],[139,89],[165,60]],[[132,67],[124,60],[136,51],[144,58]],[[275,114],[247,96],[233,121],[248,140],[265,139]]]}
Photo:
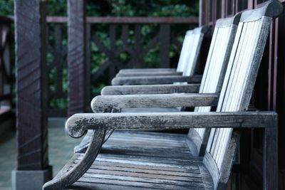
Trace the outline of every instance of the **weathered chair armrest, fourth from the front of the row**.
{"label": "weathered chair armrest, fourth from the front of the row", "polygon": [[202,75],[192,76],[140,76],[113,78],[112,85],[151,85],[171,83],[201,83]]}

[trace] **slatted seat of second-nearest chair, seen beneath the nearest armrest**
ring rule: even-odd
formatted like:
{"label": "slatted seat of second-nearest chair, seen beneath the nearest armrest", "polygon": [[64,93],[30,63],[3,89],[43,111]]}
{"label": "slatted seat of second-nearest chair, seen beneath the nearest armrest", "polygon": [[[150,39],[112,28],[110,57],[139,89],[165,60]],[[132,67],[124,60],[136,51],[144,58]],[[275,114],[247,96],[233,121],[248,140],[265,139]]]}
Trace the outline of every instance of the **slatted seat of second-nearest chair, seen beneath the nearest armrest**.
{"label": "slatted seat of second-nearest chair, seen beneath the nearest armrest", "polygon": [[187,144],[185,134],[171,134],[160,132],[130,132],[115,130],[105,144],[100,154],[124,154],[128,156],[158,157],[175,159],[177,154],[180,159],[190,157],[201,161],[192,154]]}

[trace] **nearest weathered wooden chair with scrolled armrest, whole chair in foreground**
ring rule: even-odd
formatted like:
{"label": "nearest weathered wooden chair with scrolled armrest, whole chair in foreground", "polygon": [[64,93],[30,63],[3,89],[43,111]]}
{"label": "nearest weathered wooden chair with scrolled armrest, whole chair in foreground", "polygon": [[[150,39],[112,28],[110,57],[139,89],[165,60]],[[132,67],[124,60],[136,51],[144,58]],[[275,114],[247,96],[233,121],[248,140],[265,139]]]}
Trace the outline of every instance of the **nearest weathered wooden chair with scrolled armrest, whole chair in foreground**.
{"label": "nearest weathered wooden chair with scrolled armrest, whole chair in foreground", "polygon": [[[217,102],[217,112],[73,115],[66,122],[68,134],[71,137],[81,137],[86,130],[93,130],[90,145],[85,154],[74,154],[71,161],[43,189],[63,189],[75,181],[68,189],[225,189],[239,141],[239,132],[234,132],[233,129],[242,130],[247,127],[264,129],[264,189],[277,189],[276,112],[246,110],[271,20],[279,16],[282,9],[279,1],[268,1],[260,9],[242,13]],[[198,97],[201,96],[197,95],[195,105],[200,101],[205,106],[204,100],[199,100]],[[135,139],[135,134],[130,132],[126,132],[130,133],[130,140],[121,142],[125,146],[119,152],[113,149],[108,152],[107,149],[98,155],[105,131],[110,128],[212,129],[204,157],[192,154],[186,135],[170,136],[160,142],[161,145],[164,144],[165,152],[157,152],[159,147],[152,147],[157,139],[148,141],[150,147],[145,151],[147,147],[135,148],[139,142]],[[117,144],[117,150],[122,144]],[[128,146],[133,148],[130,154],[125,149]],[[173,148],[177,151],[169,151]],[[151,149],[153,151],[150,155]]]}

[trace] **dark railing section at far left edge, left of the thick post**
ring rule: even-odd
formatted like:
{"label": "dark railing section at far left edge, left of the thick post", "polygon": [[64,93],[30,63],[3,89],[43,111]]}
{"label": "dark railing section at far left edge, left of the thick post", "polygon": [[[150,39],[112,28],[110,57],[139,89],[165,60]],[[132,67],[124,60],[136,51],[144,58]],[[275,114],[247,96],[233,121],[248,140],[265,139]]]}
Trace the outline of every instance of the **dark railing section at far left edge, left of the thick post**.
{"label": "dark railing section at far left edge, left of the thick post", "polygon": [[13,33],[11,31],[12,19],[0,16],[0,115],[12,107],[12,88],[14,75],[12,75],[13,52],[11,51]]}

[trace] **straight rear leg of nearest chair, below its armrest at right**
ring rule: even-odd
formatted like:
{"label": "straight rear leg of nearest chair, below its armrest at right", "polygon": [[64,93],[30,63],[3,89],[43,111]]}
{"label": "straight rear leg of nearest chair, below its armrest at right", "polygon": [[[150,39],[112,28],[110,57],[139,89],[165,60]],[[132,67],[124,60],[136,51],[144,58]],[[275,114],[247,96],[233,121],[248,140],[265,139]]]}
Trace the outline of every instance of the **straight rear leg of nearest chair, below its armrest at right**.
{"label": "straight rear leg of nearest chair, below its armrest at right", "polygon": [[278,189],[278,128],[264,130],[263,189]]}

